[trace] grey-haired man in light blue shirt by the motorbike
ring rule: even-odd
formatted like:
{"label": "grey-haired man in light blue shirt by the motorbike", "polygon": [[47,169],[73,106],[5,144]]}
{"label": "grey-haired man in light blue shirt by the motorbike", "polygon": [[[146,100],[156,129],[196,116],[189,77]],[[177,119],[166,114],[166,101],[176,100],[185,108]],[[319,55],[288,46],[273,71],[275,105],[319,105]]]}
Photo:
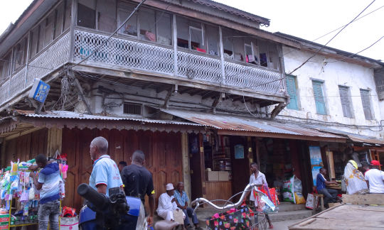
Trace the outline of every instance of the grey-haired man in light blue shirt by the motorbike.
{"label": "grey-haired man in light blue shirt by the motorbike", "polygon": [[90,157],[94,160],[93,170],[90,175],[90,187],[97,192],[109,196],[108,190],[112,187],[120,187],[123,183],[119,168],[114,160],[107,154],[108,141],[98,136],[90,143]]}

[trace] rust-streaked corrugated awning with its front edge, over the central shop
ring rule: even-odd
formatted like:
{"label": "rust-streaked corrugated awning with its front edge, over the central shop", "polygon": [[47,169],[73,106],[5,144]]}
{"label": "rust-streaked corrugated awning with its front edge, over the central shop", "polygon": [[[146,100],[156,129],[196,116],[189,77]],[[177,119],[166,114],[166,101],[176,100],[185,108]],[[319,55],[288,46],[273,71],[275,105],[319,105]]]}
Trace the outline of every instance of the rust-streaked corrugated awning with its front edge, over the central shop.
{"label": "rust-streaked corrugated awning with its front edge, over the central shop", "polygon": [[161,109],[167,114],[178,116],[188,121],[218,129],[219,134],[238,136],[262,136],[272,138],[294,138],[313,141],[346,142],[346,138],[316,129],[304,128],[277,121],[254,119],[245,116],[207,114],[198,111]]}

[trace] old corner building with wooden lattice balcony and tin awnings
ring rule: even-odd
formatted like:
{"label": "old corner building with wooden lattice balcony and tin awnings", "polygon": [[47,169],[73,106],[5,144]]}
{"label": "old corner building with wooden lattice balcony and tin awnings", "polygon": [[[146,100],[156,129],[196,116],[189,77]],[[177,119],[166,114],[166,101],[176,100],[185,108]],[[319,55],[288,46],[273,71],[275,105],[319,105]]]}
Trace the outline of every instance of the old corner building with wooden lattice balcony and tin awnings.
{"label": "old corner building with wooden lattice balcony and tin awnings", "polygon": [[[270,184],[294,172],[308,192],[308,146],[349,137],[271,121],[293,104],[283,49],[302,41],[210,0],[147,1],[124,23],[138,4],[35,0],[1,35],[1,165],[66,154],[65,205],[79,208],[90,141],[105,136],[116,161],[146,153],[157,195],[183,180],[192,198],[228,199],[254,161]],[[28,99],[36,78],[50,84],[42,112]]]}

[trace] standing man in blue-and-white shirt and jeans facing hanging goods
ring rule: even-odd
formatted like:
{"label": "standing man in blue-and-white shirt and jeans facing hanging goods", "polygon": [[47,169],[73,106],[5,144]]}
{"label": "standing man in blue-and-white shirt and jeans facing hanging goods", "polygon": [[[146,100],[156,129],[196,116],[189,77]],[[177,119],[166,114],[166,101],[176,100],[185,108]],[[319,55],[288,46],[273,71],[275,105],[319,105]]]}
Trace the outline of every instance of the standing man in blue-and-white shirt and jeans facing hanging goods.
{"label": "standing man in blue-and-white shirt and jeans facing hanging goods", "polygon": [[[32,170],[29,176],[33,179],[36,190],[40,192],[40,202],[38,206],[38,229],[48,229],[48,220],[50,229],[58,230],[58,216],[60,214],[60,183],[63,182],[60,177],[58,163],[55,161],[47,162],[43,154],[35,158],[36,164],[29,169]],[[33,172],[38,168],[43,168],[38,173]]]}

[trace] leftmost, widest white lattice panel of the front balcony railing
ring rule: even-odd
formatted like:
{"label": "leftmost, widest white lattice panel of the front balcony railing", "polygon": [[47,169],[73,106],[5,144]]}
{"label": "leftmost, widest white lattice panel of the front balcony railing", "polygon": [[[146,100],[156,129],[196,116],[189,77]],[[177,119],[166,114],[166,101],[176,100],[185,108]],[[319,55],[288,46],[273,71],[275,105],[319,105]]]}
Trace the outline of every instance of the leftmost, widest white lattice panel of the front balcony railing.
{"label": "leftmost, widest white lattice panel of the front balcony railing", "polygon": [[[85,31],[75,31],[75,61],[90,55],[107,36]],[[174,50],[132,40],[111,38],[86,62],[118,65],[137,70],[149,70],[166,74],[174,73]]]}

